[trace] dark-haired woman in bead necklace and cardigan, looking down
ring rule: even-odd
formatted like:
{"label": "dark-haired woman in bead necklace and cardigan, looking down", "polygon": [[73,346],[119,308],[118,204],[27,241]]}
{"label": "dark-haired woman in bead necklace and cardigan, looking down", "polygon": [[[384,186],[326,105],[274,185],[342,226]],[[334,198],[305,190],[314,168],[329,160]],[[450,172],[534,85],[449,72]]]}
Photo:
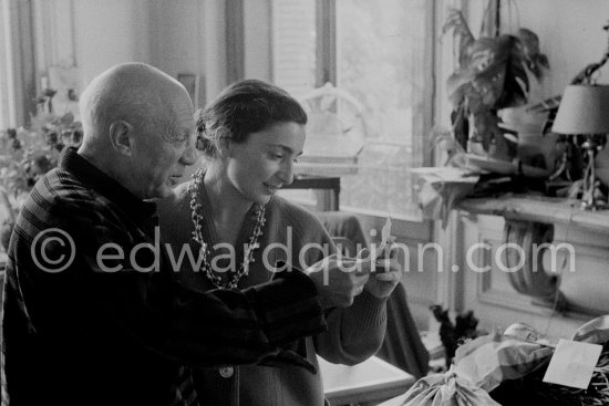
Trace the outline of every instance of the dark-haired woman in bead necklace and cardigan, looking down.
{"label": "dark-haired woman in bead necklace and cardigan, looking down", "polygon": [[[306,124],[307,114],[295,98],[254,80],[227,87],[197,114],[197,148],[205,164],[159,205],[162,240],[172,243],[174,258],[184,259],[188,252],[178,256],[186,248],[199,261],[194,267],[198,272],[179,269],[180,283],[205,291],[242,289],[290,271],[291,264],[307,269],[336,254],[316,216],[276,196],[293,180]],[[278,261],[287,264],[277,268]],[[357,364],[382,344],[385,301],[401,268],[395,259],[379,267],[385,272],[310,274],[318,290],[342,294],[347,302],[327,312],[328,331],[295,343],[293,357],[268,360],[266,366],[194,371],[199,398],[205,405],[323,405],[316,354]]]}

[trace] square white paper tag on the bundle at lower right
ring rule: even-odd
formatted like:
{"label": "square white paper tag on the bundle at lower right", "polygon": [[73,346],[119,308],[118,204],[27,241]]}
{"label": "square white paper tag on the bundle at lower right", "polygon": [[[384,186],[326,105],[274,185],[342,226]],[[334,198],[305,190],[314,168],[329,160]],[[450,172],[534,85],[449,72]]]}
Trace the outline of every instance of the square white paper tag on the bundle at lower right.
{"label": "square white paper tag on the bundle at lower right", "polygon": [[587,389],[601,351],[602,345],[560,340],[544,382]]}

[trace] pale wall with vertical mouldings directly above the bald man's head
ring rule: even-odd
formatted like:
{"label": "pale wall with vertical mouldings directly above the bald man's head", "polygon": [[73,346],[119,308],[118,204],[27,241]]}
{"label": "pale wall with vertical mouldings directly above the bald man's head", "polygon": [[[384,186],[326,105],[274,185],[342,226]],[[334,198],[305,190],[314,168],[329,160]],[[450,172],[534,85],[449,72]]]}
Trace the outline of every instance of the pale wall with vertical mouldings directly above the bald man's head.
{"label": "pale wall with vertical mouldings directly above the bald man's head", "polygon": [[82,90],[116,63],[145,62],[174,77],[199,75],[203,105],[226,85],[224,8],[224,0],[34,0],[38,75],[78,66]]}

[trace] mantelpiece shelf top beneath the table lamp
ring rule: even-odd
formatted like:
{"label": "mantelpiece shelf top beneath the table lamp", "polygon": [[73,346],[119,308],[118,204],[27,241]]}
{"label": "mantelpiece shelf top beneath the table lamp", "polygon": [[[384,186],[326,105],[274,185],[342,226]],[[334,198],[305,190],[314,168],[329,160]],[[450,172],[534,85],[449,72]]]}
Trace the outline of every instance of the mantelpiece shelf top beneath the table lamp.
{"label": "mantelpiece shelf top beneath the table lamp", "polygon": [[467,198],[457,208],[472,214],[503,216],[506,219],[567,225],[609,232],[609,210],[586,211],[578,202],[531,195],[505,195],[497,198]]}

